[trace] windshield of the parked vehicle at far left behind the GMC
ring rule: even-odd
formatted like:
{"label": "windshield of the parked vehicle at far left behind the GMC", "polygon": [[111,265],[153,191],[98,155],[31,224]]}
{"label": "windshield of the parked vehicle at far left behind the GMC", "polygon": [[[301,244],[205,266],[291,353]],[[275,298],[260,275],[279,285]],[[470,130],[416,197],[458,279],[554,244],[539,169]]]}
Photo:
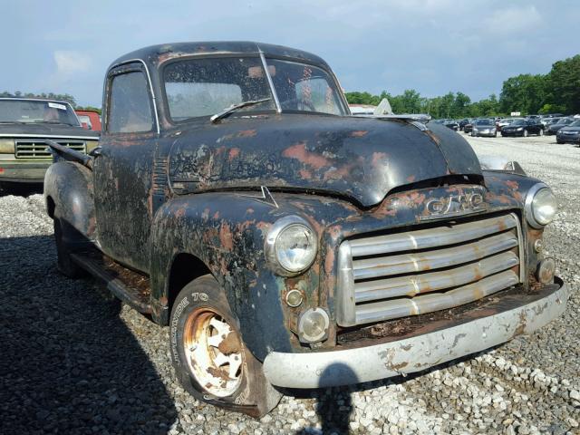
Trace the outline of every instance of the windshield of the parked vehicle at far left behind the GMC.
{"label": "windshield of the parked vehicle at far left behind the GMC", "polygon": [[0,100],[0,122],[80,126],[69,104],[42,100]]}

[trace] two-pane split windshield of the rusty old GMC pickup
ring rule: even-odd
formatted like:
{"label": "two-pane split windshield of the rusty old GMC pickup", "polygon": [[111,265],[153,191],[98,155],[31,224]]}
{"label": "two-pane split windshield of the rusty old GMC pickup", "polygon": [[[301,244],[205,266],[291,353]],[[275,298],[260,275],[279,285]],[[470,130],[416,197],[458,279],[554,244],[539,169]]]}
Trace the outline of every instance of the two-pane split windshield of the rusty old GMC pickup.
{"label": "two-pane split windshield of the rusty old GMC pickup", "polygon": [[[332,76],[312,65],[267,59],[268,73],[282,111],[345,114]],[[173,121],[215,115],[231,105],[259,102],[237,111],[275,111],[275,101],[259,57],[188,59],[164,70]]]}

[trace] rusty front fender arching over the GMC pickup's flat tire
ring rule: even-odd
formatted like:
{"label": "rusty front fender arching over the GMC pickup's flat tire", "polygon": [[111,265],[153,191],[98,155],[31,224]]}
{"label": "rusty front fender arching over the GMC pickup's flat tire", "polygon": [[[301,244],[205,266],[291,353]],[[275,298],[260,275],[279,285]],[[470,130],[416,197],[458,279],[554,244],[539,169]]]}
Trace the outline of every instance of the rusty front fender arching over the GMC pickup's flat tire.
{"label": "rusty front fender arching over the GMC pickup's flat tire", "polygon": [[153,221],[150,276],[153,299],[169,301],[169,274],[179,254],[198,257],[218,280],[240,321],[244,342],[258,359],[274,349],[291,351],[281,304],[285,279],[264,257],[267,230],[277,218],[295,213],[235,193],[180,197],[163,205]]}

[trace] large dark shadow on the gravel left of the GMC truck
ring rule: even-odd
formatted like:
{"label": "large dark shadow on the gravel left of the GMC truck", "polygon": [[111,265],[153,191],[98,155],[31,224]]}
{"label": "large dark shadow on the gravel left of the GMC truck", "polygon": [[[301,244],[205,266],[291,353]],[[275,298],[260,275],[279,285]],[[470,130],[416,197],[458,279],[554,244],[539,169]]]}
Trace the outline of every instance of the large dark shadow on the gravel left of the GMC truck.
{"label": "large dark shadow on the gravel left of the GMC truck", "polygon": [[174,402],[121,303],[55,258],[52,236],[0,238],[0,433],[167,433]]}

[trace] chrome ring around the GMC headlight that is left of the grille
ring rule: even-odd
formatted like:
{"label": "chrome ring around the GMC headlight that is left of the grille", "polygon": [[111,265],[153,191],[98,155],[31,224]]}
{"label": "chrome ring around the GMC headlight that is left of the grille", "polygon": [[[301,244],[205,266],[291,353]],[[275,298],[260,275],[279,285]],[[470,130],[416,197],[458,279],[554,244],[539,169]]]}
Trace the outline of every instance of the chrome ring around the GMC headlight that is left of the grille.
{"label": "chrome ring around the GMC headlight that is left of the grille", "polygon": [[[311,248],[312,255],[309,256],[308,261],[304,263],[300,268],[290,268],[287,265],[283,265],[278,256],[278,250],[276,243],[279,238],[283,236],[286,229],[293,226],[302,226],[304,229],[312,234],[313,245]],[[274,225],[268,231],[266,240],[264,242],[264,253],[266,256],[267,266],[276,274],[281,276],[296,276],[303,274],[306,270],[313,265],[314,259],[318,254],[318,239],[313,227],[304,219],[299,216],[291,215],[285,216],[275,221]]]}

